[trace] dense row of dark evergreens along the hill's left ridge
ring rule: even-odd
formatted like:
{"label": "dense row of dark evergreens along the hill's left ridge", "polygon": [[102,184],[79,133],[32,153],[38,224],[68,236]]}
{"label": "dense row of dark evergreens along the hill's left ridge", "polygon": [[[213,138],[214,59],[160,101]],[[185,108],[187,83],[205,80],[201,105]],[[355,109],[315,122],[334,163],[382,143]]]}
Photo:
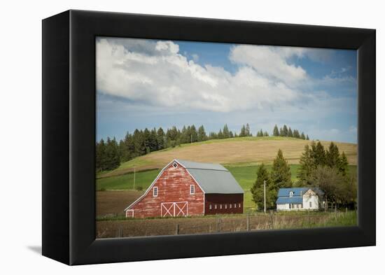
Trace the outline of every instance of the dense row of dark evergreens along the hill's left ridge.
{"label": "dense row of dark evergreens along the hill's left ridge", "polygon": [[[262,133],[262,129],[261,129]],[[250,125],[242,125],[239,134],[230,131],[227,124],[218,132],[209,132],[207,134],[204,126],[195,127],[195,125],[183,125],[182,129],[173,126],[165,132],[162,127],[156,129],[135,129],[133,133],[127,132],[124,139],[119,142],[115,137],[108,137],[106,141],[101,139],[96,143],[96,169],[97,171],[107,171],[116,169],[121,162],[127,162],[134,157],[146,155],[148,153],[162,150],[165,148],[174,148],[184,143],[194,143],[207,141],[210,139],[230,139],[244,136],[253,136]],[[257,136],[260,136],[258,132]],[[269,136],[267,132],[262,136]]]}

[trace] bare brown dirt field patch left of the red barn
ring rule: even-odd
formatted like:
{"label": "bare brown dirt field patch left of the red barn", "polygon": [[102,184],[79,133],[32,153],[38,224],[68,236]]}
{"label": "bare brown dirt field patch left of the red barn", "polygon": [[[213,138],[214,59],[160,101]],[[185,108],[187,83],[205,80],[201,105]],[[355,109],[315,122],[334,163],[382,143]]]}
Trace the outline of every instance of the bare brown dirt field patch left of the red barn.
{"label": "bare brown dirt field patch left of the red barn", "polygon": [[124,214],[124,210],[143,194],[144,191],[98,191],[97,216]]}

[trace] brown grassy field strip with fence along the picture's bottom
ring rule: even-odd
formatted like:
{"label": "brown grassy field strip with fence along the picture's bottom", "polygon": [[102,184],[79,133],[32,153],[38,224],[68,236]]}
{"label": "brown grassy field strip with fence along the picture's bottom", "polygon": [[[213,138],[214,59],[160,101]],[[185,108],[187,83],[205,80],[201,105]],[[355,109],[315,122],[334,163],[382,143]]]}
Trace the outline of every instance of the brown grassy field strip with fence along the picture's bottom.
{"label": "brown grassy field strip with fence along the picture's bottom", "polygon": [[96,234],[97,238],[115,238],[342,225],[356,225],[355,213],[254,213],[198,218],[105,220],[97,221]]}

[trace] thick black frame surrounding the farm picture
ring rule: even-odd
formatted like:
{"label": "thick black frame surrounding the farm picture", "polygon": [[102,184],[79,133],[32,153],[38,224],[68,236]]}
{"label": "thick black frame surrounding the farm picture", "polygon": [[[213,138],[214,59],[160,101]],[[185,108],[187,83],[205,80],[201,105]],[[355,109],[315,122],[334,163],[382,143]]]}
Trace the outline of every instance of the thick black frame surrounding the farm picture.
{"label": "thick black frame surrounding the farm picture", "polygon": [[[96,36],[358,50],[358,226],[95,239]],[[374,246],[375,63],[374,29],[84,10],[44,19],[43,255],[83,265]]]}

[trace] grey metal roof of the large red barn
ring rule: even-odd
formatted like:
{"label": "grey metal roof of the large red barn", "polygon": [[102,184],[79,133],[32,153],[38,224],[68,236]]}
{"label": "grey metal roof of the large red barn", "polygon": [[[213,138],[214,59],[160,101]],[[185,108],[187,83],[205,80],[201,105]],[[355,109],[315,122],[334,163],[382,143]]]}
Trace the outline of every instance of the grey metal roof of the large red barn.
{"label": "grey metal roof of the large red barn", "polygon": [[221,164],[175,160],[186,168],[206,194],[243,194],[234,176]]}

